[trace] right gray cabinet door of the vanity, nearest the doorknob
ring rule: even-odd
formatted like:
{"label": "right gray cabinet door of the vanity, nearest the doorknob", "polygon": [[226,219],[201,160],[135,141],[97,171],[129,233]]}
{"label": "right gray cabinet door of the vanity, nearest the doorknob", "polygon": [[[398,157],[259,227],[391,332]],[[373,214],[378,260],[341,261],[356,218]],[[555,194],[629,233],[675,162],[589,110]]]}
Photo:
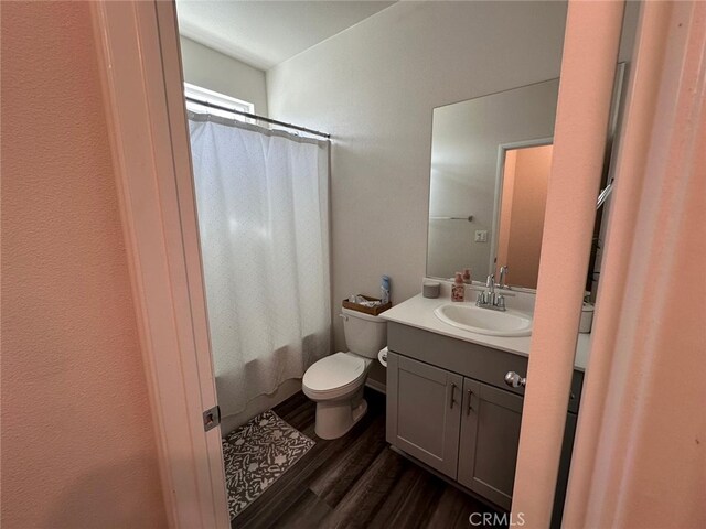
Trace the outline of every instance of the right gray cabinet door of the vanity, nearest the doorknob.
{"label": "right gray cabinet door of the vanity, nearest the doorknob", "polygon": [[463,379],[459,444],[461,485],[510,510],[523,398]]}

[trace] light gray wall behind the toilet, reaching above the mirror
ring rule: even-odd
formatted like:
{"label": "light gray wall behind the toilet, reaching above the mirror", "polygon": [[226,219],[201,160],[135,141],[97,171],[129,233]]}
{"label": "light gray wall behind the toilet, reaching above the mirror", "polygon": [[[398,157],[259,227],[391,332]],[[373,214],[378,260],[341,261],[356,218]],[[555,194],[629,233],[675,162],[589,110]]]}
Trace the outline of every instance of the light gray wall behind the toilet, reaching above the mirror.
{"label": "light gray wall behind the toilet, reaching above the mirror", "polygon": [[395,303],[419,292],[432,109],[557,77],[565,18],[564,2],[399,2],[267,72],[271,116],[333,134],[334,303],[383,273]]}

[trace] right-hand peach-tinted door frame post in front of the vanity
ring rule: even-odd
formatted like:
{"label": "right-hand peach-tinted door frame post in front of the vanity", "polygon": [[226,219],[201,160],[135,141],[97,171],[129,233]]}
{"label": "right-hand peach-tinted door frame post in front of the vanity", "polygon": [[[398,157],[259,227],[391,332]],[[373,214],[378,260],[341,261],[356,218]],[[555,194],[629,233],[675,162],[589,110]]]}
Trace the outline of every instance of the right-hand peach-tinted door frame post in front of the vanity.
{"label": "right-hand peach-tinted door frame post in front of the vanity", "polygon": [[568,3],[512,501],[532,528],[552,520],[623,12],[623,0]]}

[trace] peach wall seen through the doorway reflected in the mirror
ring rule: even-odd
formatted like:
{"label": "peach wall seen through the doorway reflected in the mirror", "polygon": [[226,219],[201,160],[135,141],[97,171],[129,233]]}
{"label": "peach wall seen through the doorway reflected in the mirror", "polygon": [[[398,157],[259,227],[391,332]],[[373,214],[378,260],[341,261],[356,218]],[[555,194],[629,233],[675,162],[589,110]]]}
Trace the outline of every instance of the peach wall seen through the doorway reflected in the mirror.
{"label": "peach wall seen through the doorway reflected in the mirror", "polygon": [[510,268],[510,284],[537,288],[552,149],[543,145],[516,151],[507,261],[499,261]]}

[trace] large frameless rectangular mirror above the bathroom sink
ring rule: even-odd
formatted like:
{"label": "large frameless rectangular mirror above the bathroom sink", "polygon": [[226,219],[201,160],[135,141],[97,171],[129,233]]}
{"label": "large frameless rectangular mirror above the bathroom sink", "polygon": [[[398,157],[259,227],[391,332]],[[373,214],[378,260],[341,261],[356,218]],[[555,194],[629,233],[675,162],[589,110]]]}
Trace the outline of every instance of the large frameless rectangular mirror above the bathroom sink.
{"label": "large frameless rectangular mirror above the bathroom sink", "polygon": [[536,289],[558,79],[434,110],[427,276]]}

